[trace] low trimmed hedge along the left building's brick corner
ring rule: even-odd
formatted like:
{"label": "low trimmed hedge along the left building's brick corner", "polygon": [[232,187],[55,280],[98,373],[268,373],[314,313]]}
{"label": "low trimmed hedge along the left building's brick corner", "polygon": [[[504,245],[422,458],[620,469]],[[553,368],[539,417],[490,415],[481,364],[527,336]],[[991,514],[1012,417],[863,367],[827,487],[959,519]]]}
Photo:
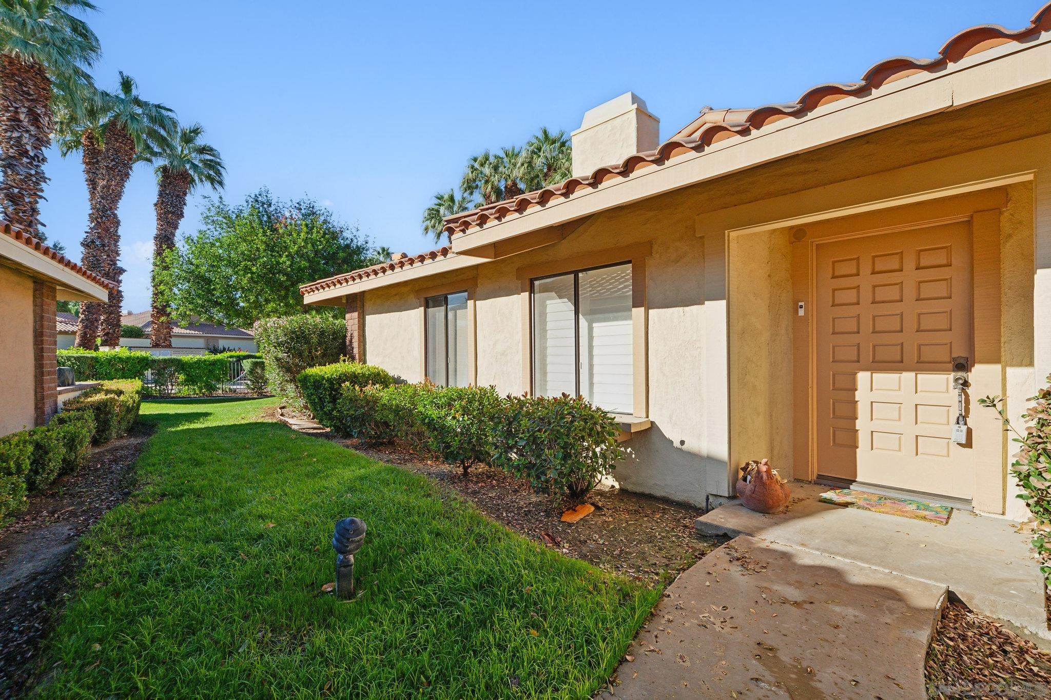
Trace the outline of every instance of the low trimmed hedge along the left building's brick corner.
{"label": "low trimmed hedge along the left building's brick corner", "polygon": [[127,432],[141,395],[139,380],[103,382],[66,401],[48,425],[0,438],[0,519],[25,504],[27,491],[83,466],[92,440],[101,444]]}

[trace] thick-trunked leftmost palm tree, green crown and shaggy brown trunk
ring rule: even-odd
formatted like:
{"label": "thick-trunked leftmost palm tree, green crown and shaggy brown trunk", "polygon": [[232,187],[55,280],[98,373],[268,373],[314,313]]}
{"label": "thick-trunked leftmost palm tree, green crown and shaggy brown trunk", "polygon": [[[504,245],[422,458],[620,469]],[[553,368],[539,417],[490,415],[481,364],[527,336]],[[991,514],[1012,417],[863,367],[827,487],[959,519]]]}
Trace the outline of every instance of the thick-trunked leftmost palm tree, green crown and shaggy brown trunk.
{"label": "thick-trunked leftmost palm tree, green crown and shaggy brown trunk", "polygon": [[99,56],[99,39],[71,13],[92,9],[88,0],[0,0],[0,208],[11,225],[41,239],[50,101],[90,83],[84,67]]}

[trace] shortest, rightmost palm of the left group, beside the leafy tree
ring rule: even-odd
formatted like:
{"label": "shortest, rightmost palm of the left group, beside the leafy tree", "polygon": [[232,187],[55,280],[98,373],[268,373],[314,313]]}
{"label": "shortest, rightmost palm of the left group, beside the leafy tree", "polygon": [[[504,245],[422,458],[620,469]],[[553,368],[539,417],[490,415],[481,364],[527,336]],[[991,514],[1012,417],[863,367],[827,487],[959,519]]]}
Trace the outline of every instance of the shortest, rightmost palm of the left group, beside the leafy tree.
{"label": "shortest, rightmost palm of the left group, beside the leafy tree", "polygon": [[180,127],[174,139],[147,154],[157,167],[157,233],[153,235],[152,307],[149,314],[149,344],[171,347],[171,318],[161,298],[159,266],[176,246],[176,232],[186,212],[186,196],[199,187],[220,190],[226,166],[214,147],[202,142],[204,127]]}

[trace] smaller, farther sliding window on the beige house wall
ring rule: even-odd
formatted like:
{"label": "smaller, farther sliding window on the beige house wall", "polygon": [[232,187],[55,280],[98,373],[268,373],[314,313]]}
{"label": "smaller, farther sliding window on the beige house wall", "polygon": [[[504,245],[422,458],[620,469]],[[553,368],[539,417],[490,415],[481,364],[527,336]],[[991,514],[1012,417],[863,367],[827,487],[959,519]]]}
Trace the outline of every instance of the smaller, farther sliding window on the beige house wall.
{"label": "smaller, farther sliding window on the beige house wall", "polygon": [[467,386],[467,292],[428,297],[425,313],[427,378],[438,386]]}

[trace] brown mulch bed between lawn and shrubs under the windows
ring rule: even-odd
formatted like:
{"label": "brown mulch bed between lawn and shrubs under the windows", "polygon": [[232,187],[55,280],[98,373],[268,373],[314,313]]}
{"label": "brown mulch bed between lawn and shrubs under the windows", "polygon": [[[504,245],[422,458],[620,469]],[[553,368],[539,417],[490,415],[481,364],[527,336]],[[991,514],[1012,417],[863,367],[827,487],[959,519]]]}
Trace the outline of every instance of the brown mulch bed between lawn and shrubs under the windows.
{"label": "brown mulch bed between lawn and shrubs under the windows", "polygon": [[[282,411],[291,412],[284,407]],[[283,412],[276,412],[283,420],[293,418],[294,423],[298,418]],[[726,542],[698,534],[694,521],[703,511],[691,506],[599,487],[588,497],[595,511],[577,523],[563,523],[559,519],[563,509],[558,504],[534,493],[526,481],[506,471],[478,465],[465,479],[457,468],[421,460],[397,446],[366,448],[321,426],[295,423],[291,427],[425,474],[468,499],[493,519],[547,547],[650,586],[668,582]]]}

